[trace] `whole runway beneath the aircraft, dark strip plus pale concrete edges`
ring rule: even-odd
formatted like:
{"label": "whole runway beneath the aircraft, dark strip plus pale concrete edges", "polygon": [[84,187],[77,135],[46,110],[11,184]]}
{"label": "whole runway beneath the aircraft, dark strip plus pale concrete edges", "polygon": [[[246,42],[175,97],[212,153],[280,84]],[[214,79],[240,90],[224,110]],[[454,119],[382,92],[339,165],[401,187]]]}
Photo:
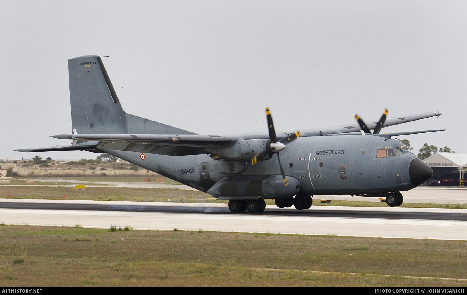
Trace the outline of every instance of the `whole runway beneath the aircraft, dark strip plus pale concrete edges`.
{"label": "whole runway beneath the aircraft, dark strip plus pale concrete edges", "polygon": [[[298,211],[267,205],[266,211],[261,214],[233,214],[228,211],[226,204],[138,202],[135,205],[135,202],[57,202],[24,199],[13,202],[11,199],[1,199],[0,207],[0,221],[16,225],[79,224],[92,228],[129,225],[141,230],[177,228],[222,232],[467,240],[466,209],[330,206]],[[31,207],[38,209],[29,209]]]}

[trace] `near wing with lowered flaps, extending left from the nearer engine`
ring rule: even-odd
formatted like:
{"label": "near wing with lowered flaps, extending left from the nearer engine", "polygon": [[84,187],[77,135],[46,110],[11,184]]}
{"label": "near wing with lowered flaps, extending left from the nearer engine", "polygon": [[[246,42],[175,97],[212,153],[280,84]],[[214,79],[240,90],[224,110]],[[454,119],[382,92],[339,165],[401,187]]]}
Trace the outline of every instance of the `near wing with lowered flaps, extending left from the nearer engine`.
{"label": "near wing with lowered flaps, extending left from the nearer engine", "polygon": [[232,143],[232,139],[225,136],[198,134],[59,134],[51,137],[98,141],[96,149],[173,156],[205,154],[205,148]]}

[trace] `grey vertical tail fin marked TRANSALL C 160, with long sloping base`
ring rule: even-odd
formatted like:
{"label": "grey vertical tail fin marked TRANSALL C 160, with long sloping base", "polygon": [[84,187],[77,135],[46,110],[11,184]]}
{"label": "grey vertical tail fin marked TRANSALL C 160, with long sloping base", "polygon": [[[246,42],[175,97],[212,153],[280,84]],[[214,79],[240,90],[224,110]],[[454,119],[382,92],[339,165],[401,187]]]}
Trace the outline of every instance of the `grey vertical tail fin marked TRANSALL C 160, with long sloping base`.
{"label": "grey vertical tail fin marked TRANSALL C 160, with long sloping base", "polygon": [[123,111],[99,56],[68,60],[71,128],[81,134],[195,134]]}

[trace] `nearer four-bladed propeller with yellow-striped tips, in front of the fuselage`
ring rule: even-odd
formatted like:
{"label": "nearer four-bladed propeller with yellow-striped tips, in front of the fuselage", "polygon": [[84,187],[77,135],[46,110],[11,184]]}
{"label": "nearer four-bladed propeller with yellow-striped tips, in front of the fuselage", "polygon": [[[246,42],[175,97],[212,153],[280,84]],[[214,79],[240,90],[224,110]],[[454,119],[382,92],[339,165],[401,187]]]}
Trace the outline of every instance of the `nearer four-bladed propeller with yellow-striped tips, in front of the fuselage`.
{"label": "nearer four-bladed propeller with yellow-striped tips, in front of the fuselage", "polygon": [[257,162],[257,159],[261,160],[266,155],[273,155],[272,153],[276,153],[277,160],[279,160],[279,167],[281,169],[281,174],[284,180],[284,185],[288,185],[289,183],[287,182],[287,177],[285,177],[284,170],[282,169],[279,152],[285,148],[285,145],[287,143],[289,143],[292,140],[297,139],[297,137],[300,136],[300,130],[297,130],[295,133],[290,134],[287,137],[277,140],[276,129],[274,128],[274,123],[272,122],[272,116],[271,116],[271,112],[269,111],[269,108],[266,108],[266,119],[268,121],[269,139],[271,140],[269,143],[269,148],[266,149],[264,152],[258,153],[255,156],[253,156],[253,158],[251,158],[251,164],[255,165]]}

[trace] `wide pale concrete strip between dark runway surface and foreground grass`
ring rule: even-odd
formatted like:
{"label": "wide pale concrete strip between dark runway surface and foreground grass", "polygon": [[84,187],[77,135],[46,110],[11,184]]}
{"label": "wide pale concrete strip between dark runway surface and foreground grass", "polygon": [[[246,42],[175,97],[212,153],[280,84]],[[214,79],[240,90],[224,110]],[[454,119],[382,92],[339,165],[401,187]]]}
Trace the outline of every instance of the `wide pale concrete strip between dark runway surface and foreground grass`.
{"label": "wide pale concrete strip between dark runway surface and foreground grass", "polygon": [[130,225],[135,230],[173,230],[178,228],[185,231],[201,229],[206,232],[467,240],[467,221],[451,220],[46,209],[0,209],[0,216],[0,222],[11,225],[75,226],[78,223],[87,228],[108,229],[111,224],[116,224]]}

